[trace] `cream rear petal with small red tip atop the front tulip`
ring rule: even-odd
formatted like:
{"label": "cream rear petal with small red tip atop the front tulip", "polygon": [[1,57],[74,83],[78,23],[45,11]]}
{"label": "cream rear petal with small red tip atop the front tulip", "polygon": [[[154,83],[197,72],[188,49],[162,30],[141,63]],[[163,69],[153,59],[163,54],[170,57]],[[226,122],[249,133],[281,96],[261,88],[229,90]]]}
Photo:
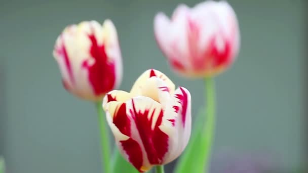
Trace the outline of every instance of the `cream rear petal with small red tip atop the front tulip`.
{"label": "cream rear petal with small red tip atop the front tulip", "polygon": [[146,81],[148,78],[150,77],[159,77],[161,78],[163,81],[166,82],[167,84],[167,88],[169,90],[170,93],[174,92],[175,86],[174,83],[162,72],[155,70],[155,69],[149,69],[146,70],[144,73],[142,73],[138,79],[135,81],[130,93],[134,96],[138,96],[141,95],[142,93],[142,88],[143,86],[146,84]]}

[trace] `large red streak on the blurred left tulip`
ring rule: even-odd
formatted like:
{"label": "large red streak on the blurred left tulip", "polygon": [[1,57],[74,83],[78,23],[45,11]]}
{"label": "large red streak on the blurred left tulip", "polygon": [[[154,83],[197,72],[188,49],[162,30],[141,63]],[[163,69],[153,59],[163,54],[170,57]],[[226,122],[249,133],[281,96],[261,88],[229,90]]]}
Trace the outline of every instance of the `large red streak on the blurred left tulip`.
{"label": "large red streak on the blurred left tulip", "polygon": [[107,62],[105,46],[98,45],[95,35],[90,34],[89,39],[92,42],[90,55],[95,62],[93,65],[89,65],[86,60],[83,62],[83,67],[88,69],[88,77],[94,93],[101,95],[113,89],[115,83],[114,64]]}

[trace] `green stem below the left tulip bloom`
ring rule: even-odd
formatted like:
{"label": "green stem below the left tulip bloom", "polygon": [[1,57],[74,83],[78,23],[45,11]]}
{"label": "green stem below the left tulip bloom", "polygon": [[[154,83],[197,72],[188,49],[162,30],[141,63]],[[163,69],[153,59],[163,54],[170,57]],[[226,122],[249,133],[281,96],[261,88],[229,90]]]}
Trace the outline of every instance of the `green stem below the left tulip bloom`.
{"label": "green stem below the left tulip bloom", "polygon": [[109,144],[109,134],[106,124],[106,118],[104,116],[104,111],[102,109],[101,102],[96,103],[96,109],[98,114],[98,125],[100,131],[100,145],[101,145],[101,157],[102,166],[104,168],[104,173],[111,173],[110,169],[110,144]]}

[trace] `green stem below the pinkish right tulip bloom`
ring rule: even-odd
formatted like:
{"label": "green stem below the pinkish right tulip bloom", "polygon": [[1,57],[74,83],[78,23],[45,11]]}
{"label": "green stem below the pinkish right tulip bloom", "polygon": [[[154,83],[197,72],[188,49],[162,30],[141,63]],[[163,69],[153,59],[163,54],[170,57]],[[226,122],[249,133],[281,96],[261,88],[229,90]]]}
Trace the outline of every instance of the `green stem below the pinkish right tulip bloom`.
{"label": "green stem below the pinkish right tulip bloom", "polygon": [[215,84],[214,79],[211,77],[205,78],[205,98],[206,98],[206,121],[203,128],[204,150],[202,155],[204,163],[204,171],[209,172],[209,163],[211,158],[211,147],[214,140],[215,131]]}

